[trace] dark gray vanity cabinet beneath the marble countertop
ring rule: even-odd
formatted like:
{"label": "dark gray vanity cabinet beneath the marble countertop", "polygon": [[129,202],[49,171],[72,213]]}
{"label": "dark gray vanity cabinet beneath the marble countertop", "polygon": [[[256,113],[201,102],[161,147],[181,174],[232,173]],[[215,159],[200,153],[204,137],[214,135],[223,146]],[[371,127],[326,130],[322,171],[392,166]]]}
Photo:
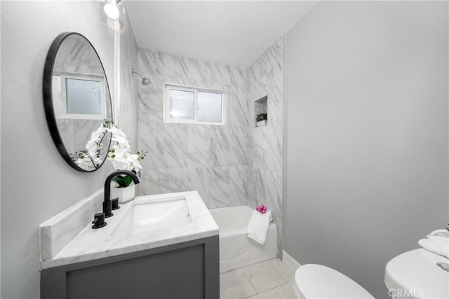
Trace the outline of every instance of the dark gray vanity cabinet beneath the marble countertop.
{"label": "dark gray vanity cabinet beneath the marble countertop", "polygon": [[41,270],[42,299],[220,298],[218,236]]}

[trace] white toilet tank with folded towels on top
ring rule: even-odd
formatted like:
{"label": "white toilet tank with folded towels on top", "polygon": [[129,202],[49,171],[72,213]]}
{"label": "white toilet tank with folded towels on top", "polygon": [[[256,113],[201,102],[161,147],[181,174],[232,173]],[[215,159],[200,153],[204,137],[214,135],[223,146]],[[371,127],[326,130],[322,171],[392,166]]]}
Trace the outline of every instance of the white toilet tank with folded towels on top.
{"label": "white toilet tank with folded towels on top", "polygon": [[449,298],[449,272],[436,263],[449,259],[425,249],[392,258],[385,267],[385,285],[394,298]]}

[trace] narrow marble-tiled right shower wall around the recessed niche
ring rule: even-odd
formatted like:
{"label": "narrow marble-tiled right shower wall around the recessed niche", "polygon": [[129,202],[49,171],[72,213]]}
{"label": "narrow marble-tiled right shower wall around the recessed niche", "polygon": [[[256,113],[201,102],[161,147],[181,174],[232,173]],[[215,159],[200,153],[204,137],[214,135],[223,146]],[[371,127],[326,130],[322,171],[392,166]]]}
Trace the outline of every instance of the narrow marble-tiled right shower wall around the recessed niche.
{"label": "narrow marble-tiled right shower wall around the recessed niche", "polygon": [[[279,229],[279,248],[283,239],[283,74],[284,36],[279,37],[250,67],[248,76],[248,123],[250,146],[248,164],[253,177],[249,206],[266,204],[272,209]],[[268,97],[267,126],[254,127],[254,101]]]}

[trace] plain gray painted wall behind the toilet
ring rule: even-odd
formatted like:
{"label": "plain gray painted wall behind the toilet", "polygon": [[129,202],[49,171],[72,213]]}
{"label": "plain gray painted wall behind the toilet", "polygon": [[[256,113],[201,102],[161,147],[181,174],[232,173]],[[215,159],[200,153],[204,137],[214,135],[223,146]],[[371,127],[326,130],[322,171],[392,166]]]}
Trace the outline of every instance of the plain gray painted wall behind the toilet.
{"label": "plain gray painted wall behind the toilet", "polygon": [[286,66],[285,250],[387,298],[448,221],[448,2],[321,2]]}

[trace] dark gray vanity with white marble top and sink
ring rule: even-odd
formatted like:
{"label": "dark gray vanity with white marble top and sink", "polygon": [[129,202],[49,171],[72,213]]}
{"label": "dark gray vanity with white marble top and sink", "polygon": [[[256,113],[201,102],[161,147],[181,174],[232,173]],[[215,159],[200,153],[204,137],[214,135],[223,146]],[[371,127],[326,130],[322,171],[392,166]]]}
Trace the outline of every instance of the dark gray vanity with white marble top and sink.
{"label": "dark gray vanity with white marble top and sink", "polygon": [[220,297],[218,227],[196,191],[136,197],[64,237],[99,197],[41,225],[41,298]]}

